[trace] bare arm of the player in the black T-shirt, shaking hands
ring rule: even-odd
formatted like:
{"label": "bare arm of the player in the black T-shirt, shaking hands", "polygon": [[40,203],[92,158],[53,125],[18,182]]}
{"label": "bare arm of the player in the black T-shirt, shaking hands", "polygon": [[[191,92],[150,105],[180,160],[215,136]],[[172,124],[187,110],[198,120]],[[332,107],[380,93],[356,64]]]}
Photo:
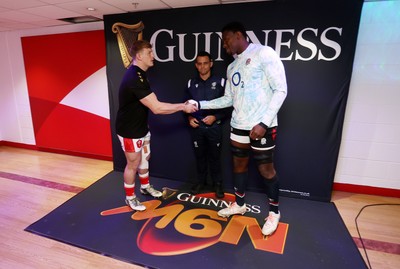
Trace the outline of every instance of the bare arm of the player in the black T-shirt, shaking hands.
{"label": "bare arm of the player in the black T-shirt, shaking hands", "polygon": [[178,111],[193,113],[197,110],[195,105],[189,103],[171,104],[160,102],[154,93],[140,99],[140,102],[147,106],[154,114],[172,114]]}

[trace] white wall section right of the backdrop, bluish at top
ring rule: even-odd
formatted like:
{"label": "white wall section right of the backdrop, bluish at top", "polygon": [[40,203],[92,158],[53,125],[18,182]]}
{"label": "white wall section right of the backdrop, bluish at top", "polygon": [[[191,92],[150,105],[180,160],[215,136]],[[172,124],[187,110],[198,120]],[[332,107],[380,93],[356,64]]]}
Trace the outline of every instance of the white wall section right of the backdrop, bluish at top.
{"label": "white wall section right of the backdrop, bluish at top", "polygon": [[400,189],[399,10],[364,3],[336,183]]}

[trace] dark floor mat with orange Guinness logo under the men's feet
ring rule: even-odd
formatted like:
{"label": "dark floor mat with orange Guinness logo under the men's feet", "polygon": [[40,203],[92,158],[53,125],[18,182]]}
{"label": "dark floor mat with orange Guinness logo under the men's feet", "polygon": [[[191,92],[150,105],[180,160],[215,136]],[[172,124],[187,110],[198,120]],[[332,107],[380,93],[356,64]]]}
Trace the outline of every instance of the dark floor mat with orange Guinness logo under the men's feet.
{"label": "dark floor mat with orange Guinness logo under the men's feet", "polygon": [[114,171],[25,230],[147,268],[367,268],[333,203],[281,197],[278,229],[264,237],[263,194],[246,193],[246,214],[221,218],[232,194],[193,196],[182,182],[151,181],[163,197],[138,192],[146,211],[125,205]]}

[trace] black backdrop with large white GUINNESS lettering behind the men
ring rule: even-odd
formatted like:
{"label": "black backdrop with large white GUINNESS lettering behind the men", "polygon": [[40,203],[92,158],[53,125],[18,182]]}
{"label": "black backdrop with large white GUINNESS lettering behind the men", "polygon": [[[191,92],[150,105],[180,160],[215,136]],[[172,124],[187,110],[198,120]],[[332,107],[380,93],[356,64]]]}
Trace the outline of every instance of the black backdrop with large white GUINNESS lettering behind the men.
{"label": "black backdrop with large white GUINNESS lettering behind the men", "polygon": [[[114,169],[125,166],[114,127],[125,68],[112,25],[144,23],[143,37],[153,43],[156,54],[155,66],[148,71],[150,84],[161,101],[175,103],[184,101],[187,80],[196,74],[192,59],[197,51],[209,50],[216,58],[214,72],[225,75],[232,59],[222,48],[220,30],[235,20],[245,25],[252,42],[276,49],[285,66],[288,96],[278,115],[275,162],[281,195],[329,201],[362,2],[266,1],[105,16]],[[149,125],[150,175],[191,181],[195,160],[183,114],[151,114]],[[224,127],[223,180],[231,187],[229,122]],[[254,163],[249,175],[249,189],[261,190]]]}

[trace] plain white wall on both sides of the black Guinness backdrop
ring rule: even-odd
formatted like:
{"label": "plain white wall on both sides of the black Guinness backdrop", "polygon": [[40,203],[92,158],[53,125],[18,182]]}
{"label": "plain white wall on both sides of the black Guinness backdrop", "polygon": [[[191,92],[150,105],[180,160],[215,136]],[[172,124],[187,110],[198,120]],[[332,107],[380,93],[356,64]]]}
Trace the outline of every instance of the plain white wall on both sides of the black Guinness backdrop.
{"label": "plain white wall on both sides of the black Guinness backdrop", "polygon": [[[400,1],[364,3],[336,183],[400,189]],[[0,141],[35,144],[22,36],[103,23],[0,33]]]}

